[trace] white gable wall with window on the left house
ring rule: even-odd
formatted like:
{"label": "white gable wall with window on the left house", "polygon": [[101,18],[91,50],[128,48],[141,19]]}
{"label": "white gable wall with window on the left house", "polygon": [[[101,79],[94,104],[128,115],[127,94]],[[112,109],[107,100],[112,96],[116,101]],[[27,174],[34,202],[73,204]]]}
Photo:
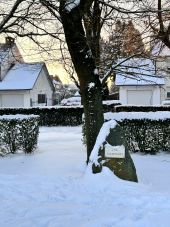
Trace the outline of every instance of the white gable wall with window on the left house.
{"label": "white gable wall with window on the left house", "polygon": [[52,105],[52,88],[46,77],[46,70],[42,69],[33,89],[30,91],[30,97],[32,99],[33,106],[38,105],[38,94],[46,94],[47,105]]}

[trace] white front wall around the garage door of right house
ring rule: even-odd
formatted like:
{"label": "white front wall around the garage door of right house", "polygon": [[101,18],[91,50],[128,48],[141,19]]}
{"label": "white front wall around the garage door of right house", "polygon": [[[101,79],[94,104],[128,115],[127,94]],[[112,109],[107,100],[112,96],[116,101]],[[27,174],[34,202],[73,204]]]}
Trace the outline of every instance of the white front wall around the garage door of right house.
{"label": "white front wall around the garage door of right house", "polygon": [[[128,103],[128,91],[136,91],[136,92],[140,91],[140,93],[151,91],[152,92],[151,105],[159,105],[162,102],[159,86],[120,86],[119,96],[120,96],[120,101],[123,105],[133,104],[133,103]],[[143,104],[143,100],[142,100],[142,96],[140,96],[138,105],[142,105],[142,104]]]}

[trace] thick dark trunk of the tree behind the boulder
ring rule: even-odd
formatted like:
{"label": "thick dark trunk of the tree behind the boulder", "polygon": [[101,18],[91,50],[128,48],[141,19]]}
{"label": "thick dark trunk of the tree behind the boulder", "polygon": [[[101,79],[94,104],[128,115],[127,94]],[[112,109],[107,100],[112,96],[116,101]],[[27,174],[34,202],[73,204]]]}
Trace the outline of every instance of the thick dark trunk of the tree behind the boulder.
{"label": "thick dark trunk of the tree behind the boulder", "polygon": [[60,16],[68,49],[80,82],[85,114],[88,163],[97,135],[104,122],[102,87],[82,24],[83,3],[69,11],[65,5],[65,1],[61,1]]}

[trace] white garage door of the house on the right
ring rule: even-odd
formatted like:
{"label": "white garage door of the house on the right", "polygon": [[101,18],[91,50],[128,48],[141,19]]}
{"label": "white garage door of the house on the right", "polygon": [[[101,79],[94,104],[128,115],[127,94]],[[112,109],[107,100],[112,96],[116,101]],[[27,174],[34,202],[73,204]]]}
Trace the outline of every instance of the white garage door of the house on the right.
{"label": "white garage door of the house on the right", "polygon": [[128,104],[152,105],[152,91],[127,91]]}

